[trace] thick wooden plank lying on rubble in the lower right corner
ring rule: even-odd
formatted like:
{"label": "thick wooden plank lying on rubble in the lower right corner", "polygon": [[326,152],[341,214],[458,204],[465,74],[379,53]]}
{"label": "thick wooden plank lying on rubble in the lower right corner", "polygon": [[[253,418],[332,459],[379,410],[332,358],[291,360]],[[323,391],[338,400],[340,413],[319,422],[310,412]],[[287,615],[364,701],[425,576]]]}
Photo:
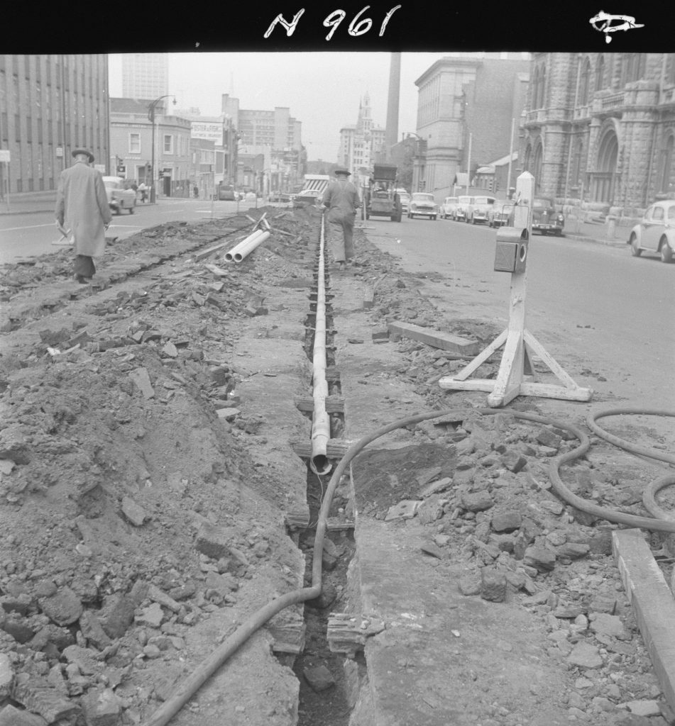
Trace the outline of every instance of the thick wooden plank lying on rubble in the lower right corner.
{"label": "thick wooden plank lying on rubble in the lower right corner", "polygon": [[675,709],[675,600],[639,529],[615,529],[612,548],[642,640],[671,709]]}

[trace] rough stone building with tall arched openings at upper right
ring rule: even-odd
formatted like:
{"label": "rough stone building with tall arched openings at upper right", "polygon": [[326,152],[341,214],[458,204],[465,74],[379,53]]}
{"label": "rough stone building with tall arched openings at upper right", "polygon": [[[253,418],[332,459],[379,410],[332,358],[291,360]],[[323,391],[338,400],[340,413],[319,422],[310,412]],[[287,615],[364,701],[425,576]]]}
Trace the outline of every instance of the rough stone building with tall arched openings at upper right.
{"label": "rough stone building with tall arched openings at upper right", "polygon": [[674,144],[675,53],[533,54],[519,159],[539,194],[638,215],[675,198]]}

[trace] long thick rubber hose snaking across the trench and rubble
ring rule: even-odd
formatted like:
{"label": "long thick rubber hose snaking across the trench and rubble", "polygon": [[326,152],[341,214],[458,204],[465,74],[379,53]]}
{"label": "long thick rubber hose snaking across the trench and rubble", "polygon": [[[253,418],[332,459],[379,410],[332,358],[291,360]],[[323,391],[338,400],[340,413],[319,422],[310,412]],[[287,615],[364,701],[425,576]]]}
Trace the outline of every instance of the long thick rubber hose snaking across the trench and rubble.
{"label": "long thick rubber hose snaking across the trench and rubble", "polygon": [[[461,418],[465,418],[469,414],[480,413],[482,415],[490,415],[500,412],[504,411],[493,408],[485,408],[445,409],[442,411],[421,413],[409,416],[407,418],[402,418],[393,423],[390,423],[389,425],[382,426],[381,428],[376,429],[376,431],[373,431],[373,433],[370,433],[367,436],[363,436],[362,439],[356,441],[355,444],[352,444],[352,446],[349,446],[349,449],[347,449],[347,453],[344,454],[344,457],[342,457],[339,464],[336,466],[333,476],[331,476],[331,480],[328,482],[328,486],[326,487],[326,494],[323,497],[323,504],[321,505],[319,511],[316,537],[312,550],[313,555],[311,587],[303,587],[300,590],[287,592],[285,595],[281,595],[275,600],[272,600],[272,602],[267,603],[267,605],[264,605],[264,607],[260,608],[258,611],[248,617],[248,619],[246,619],[246,621],[244,621],[238,627],[238,629],[233,632],[232,635],[227,637],[222,642],[222,644],[219,645],[219,647],[216,648],[216,650],[214,650],[214,652],[206,658],[206,660],[202,661],[201,664],[197,666],[192,674],[187,676],[187,678],[182,681],[174,695],[164,701],[164,703],[146,722],[145,726],[166,726],[166,724],[169,723],[169,721],[178,713],[178,711],[182,709],[182,706],[185,706],[185,703],[187,703],[187,701],[189,701],[190,698],[194,696],[199,688],[201,688],[206,680],[209,680],[209,677],[211,677],[211,675],[213,675],[220,668],[220,666],[222,666],[225,661],[227,661],[228,658],[233,656],[236,650],[238,650],[238,648],[241,648],[241,646],[246,643],[246,640],[248,640],[248,638],[251,637],[251,635],[253,635],[256,630],[259,630],[265,623],[267,623],[267,621],[272,619],[272,617],[274,617],[277,613],[280,613],[285,608],[288,608],[291,605],[296,605],[298,603],[304,603],[307,600],[313,600],[315,599],[315,597],[318,597],[321,594],[321,560],[323,554],[323,540],[326,536],[328,512],[331,508],[333,495],[342,475],[344,474],[344,470],[347,468],[347,465],[352,462],[357,454],[365,449],[365,446],[368,446],[368,444],[371,444],[372,441],[379,439],[381,436],[384,436],[384,434],[389,433],[390,431],[395,431],[395,429],[397,428],[405,428],[405,426],[421,423],[421,421],[427,421],[430,419],[445,416],[453,416],[456,417],[457,420],[459,420]],[[554,460],[551,461],[551,465],[549,465],[549,477],[551,478],[552,489],[559,497],[564,499],[567,504],[572,505],[578,510],[589,513],[601,519],[606,519],[610,522],[624,524],[629,527],[638,527],[640,529],[650,529],[655,531],[675,533],[675,520],[673,519],[666,520],[665,517],[657,519],[652,519],[649,517],[639,517],[636,515],[625,514],[623,512],[610,510],[605,507],[599,507],[598,505],[586,502],[586,500],[581,499],[581,497],[577,497],[575,494],[570,492],[569,489],[567,489],[565,484],[562,483],[562,479],[559,476],[559,468],[566,462],[573,461],[578,457],[581,457],[583,454],[586,453],[586,451],[588,451],[591,442],[589,440],[589,437],[586,436],[583,431],[568,423],[562,423],[561,421],[553,420],[543,416],[524,413],[520,411],[512,411],[510,409],[508,412],[517,419],[532,421],[533,423],[542,423],[544,425],[553,425],[557,428],[561,428],[564,431],[569,431],[573,434],[573,436],[576,436],[579,441],[581,441],[581,444],[577,446],[576,449],[573,449],[572,451],[562,454],[558,457],[555,457]],[[637,413],[638,411],[636,409],[631,409],[631,412]],[[639,413],[647,412],[640,411]],[[610,413],[600,413],[599,415],[596,415],[596,418],[599,418],[603,415],[610,415]],[[675,412],[659,412],[658,415],[673,416],[675,415]],[[621,445],[623,447],[623,442]],[[674,481],[669,481],[669,483],[672,484],[674,483]],[[656,482],[653,483],[651,486],[654,487],[655,484]],[[652,489],[652,498],[653,495],[658,492],[658,489],[662,489],[663,486],[666,486],[666,484],[661,484],[657,488]],[[655,516],[658,515],[655,514]]]}

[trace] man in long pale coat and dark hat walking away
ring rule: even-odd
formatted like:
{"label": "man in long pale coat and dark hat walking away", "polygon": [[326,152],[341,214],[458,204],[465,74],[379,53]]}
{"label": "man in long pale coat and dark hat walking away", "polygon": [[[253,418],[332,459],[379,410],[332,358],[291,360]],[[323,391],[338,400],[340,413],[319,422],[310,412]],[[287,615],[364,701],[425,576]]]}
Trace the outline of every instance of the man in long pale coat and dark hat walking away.
{"label": "man in long pale coat and dark hat walking away", "polygon": [[105,250],[105,230],[113,216],[100,171],[92,166],[94,155],[86,149],[73,151],[75,163],[61,172],[56,194],[56,222],[70,229],[75,250],[75,279],[82,284],[96,272],[94,257]]}

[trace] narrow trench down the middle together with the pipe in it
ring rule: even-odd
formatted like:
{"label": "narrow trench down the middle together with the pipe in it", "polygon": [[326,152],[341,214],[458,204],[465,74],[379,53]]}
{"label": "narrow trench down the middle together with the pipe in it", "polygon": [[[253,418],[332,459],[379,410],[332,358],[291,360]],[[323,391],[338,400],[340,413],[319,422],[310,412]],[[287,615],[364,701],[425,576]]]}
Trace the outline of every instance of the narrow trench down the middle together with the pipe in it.
{"label": "narrow trench down the middle together with the pipe in it", "polygon": [[[341,402],[339,374],[335,370],[334,318],[331,306],[330,275],[326,265],[326,245],[323,219],[319,232],[315,286],[310,293],[310,312],[305,322],[304,349],[312,360],[312,430],[310,446],[298,452],[307,460],[307,502],[310,520],[299,537],[307,569],[306,580],[311,580],[312,550],[315,526],[323,504],[328,476],[334,458],[341,457],[342,447],[331,436],[339,436],[344,428],[344,404]],[[349,500],[349,475],[336,490],[331,513],[343,515]],[[347,567],[354,552],[354,539],[350,523],[343,516],[331,518],[323,542],[323,586],[319,597],[308,600],[304,608],[306,626],[305,648],[294,662],[299,680],[298,726],[347,726],[354,705],[352,669],[344,653],[334,653],[328,643],[328,622],[333,611],[343,609],[347,592]],[[319,556],[313,552],[313,556]]]}

